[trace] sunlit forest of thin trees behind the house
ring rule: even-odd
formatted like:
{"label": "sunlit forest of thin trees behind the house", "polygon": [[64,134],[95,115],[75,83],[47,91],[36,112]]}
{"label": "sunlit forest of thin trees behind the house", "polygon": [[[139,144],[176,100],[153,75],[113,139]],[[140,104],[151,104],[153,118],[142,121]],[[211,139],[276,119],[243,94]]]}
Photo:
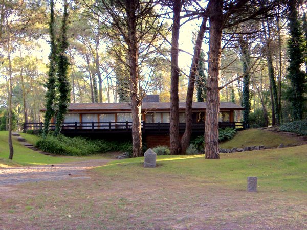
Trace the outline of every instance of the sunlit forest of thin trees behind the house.
{"label": "sunlit forest of thin trees behind the house", "polygon": [[[65,53],[70,63],[68,79],[70,101],[73,103],[130,100],[127,44],[120,27],[112,24],[115,19],[107,9],[107,6],[112,6],[115,12],[121,12],[121,5],[116,5],[117,2],[121,1],[68,2],[67,37],[70,45]],[[174,9],[168,2],[152,1],[152,11],[144,15],[147,24],[153,26],[142,37],[138,60],[140,97],[159,94],[162,102],[169,102],[171,98]],[[192,49],[187,49],[187,41],[196,44],[207,2],[179,2],[182,7],[179,53],[182,55],[179,56],[178,97],[184,102],[190,79],[188,66],[193,57]],[[228,7],[236,2],[227,2]],[[219,85],[225,87],[219,91],[220,100],[243,105],[247,112],[237,119],[244,119],[251,127],[265,127],[297,119],[291,103],[293,84],[287,77],[291,72],[289,42],[293,36],[291,22],[294,17],[300,31],[296,39],[301,42],[303,54],[300,58],[300,70],[304,74],[304,80],[300,83],[304,90],[300,119],[306,118],[306,4],[303,1],[289,1],[294,6],[291,9],[291,4],[285,2],[284,5],[274,5],[263,17],[223,29]],[[13,121],[15,128],[20,130],[24,122],[43,121],[39,109],[46,106],[50,6],[44,1],[3,0],[0,7],[0,129],[8,129],[11,87]],[[60,34],[62,8],[62,1],[56,1],[56,34]],[[205,26],[209,27],[208,24],[206,22]],[[190,32],[185,28],[189,28]],[[194,101],[206,99],[208,32],[204,32],[203,52],[195,71]]]}

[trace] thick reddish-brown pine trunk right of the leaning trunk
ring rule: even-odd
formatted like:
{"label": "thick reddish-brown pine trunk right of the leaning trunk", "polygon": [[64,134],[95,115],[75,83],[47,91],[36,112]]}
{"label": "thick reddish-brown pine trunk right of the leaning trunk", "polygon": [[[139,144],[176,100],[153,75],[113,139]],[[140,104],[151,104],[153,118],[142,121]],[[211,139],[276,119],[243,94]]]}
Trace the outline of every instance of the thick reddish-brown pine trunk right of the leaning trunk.
{"label": "thick reddish-brown pine trunk right of the leaning trunk", "polygon": [[211,0],[209,7],[209,52],[208,52],[208,88],[205,121],[206,159],[219,159],[218,150],[218,113],[220,112],[220,95],[218,79],[220,77],[221,42],[223,30],[222,1]]}

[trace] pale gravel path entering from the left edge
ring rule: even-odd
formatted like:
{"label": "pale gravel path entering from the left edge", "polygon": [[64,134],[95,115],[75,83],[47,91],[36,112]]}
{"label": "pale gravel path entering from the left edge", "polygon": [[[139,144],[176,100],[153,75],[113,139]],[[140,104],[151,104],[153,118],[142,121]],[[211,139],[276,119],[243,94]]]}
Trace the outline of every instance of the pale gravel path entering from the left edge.
{"label": "pale gravel path entering from the left edge", "polygon": [[18,183],[89,178],[87,169],[111,160],[96,159],[56,165],[0,168],[0,186]]}

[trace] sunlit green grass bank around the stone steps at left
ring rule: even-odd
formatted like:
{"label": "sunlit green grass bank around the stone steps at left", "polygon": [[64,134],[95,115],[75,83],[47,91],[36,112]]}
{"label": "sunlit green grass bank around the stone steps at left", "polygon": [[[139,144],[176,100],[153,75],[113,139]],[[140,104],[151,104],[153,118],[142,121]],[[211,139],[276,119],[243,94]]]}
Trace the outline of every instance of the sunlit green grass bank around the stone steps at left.
{"label": "sunlit green grass bank around the stone steps at left", "polygon": [[[35,135],[30,135],[26,133],[22,133],[21,136],[25,137],[27,142],[35,143],[38,139]],[[46,164],[57,164],[64,162],[72,162],[76,160],[87,160],[87,159],[101,159],[104,158],[105,155],[95,155],[95,156],[86,156],[86,157],[54,157],[54,156],[46,156],[40,154],[37,151],[33,151],[23,144],[18,142],[16,138],[13,137],[13,147],[14,147],[14,155],[13,160],[9,160],[9,145],[8,145],[8,132],[1,131],[0,132],[0,167],[6,166],[18,166],[18,165],[46,165]]]}

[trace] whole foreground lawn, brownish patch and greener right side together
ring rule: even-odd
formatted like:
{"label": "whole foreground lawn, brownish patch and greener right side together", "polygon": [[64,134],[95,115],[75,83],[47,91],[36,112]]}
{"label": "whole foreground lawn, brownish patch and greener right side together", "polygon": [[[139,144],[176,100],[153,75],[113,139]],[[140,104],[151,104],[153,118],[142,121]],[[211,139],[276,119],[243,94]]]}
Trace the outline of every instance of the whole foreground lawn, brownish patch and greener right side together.
{"label": "whole foreground lawn, brownish patch and greener right side together", "polygon": [[[116,160],[90,178],[2,188],[0,226],[33,229],[306,229],[307,146]],[[246,192],[246,177],[258,192]],[[5,217],[1,219],[2,217]]]}

